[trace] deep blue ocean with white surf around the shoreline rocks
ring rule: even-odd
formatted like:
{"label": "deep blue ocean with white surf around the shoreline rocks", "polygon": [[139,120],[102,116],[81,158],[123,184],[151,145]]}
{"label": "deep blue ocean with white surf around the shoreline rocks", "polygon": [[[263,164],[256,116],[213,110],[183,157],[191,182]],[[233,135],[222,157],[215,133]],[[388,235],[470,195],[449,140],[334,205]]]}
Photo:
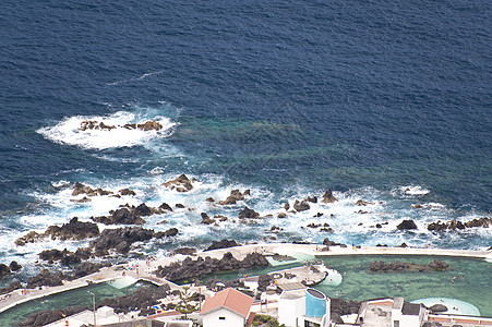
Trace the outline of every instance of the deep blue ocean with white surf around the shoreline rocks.
{"label": "deep blue ocean with white surf around the shoreline rocks", "polygon": [[[265,237],[488,249],[492,228],[427,223],[491,216],[491,16],[489,0],[4,1],[0,262],[29,274],[41,249],[87,242],[20,247],[20,235],[142,202],[187,206],[146,218],[180,234],[145,253]],[[81,131],[84,120],[164,130]],[[161,185],[180,173],[200,181],[191,192]],[[74,182],[136,195],[74,203]],[[328,187],[337,203],[276,217]],[[233,189],[251,196],[205,201]],[[233,222],[244,205],[273,217]],[[202,211],[229,220],[203,226]],[[419,229],[397,231],[404,219]]]}

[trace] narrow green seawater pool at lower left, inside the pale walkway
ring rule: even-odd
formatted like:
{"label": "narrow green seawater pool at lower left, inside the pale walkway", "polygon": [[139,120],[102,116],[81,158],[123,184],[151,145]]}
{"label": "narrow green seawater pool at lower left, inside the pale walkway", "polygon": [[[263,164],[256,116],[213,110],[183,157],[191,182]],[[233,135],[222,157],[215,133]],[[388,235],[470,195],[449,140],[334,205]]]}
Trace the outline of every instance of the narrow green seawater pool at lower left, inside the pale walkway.
{"label": "narrow green seawater pool at lower left, inside the pale walkway", "polygon": [[40,299],[36,299],[20,305],[16,305],[4,313],[0,314],[1,326],[17,326],[20,322],[25,319],[31,313],[41,310],[57,310],[72,305],[93,306],[93,295],[88,291],[96,294],[96,304],[108,298],[117,298],[130,294],[136,289],[148,286],[148,283],[137,282],[124,289],[118,289],[109,283],[99,283],[81,289],[58,293]]}

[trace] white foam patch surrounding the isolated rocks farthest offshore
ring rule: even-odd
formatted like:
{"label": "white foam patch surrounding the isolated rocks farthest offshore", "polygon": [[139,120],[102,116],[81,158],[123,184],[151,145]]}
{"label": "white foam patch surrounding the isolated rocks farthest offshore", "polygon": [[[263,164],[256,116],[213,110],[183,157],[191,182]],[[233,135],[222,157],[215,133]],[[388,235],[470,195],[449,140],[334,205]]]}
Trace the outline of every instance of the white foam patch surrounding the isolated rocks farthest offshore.
{"label": "white foam patch surrounding the isolated rocks farthest offshore", "polygon": [[[112,130],[81,131],[81,123],[86,120],[104,122],[106,125],[113,125],[116,128]],[[159,122],[163,129],[160,131],[141,131],[139,129],[129,130],[123,128],[124,124],[144,123],[148,120]],[[142,114],[118,111],[106,117],[76,116],[65,118],[58,124],[39,129],[37,132],[55,143],[74,145],[82,148],[106,149],[131,147],[145,144],[153,138],[168,137],[172,134],[176,126],[177,123],[166,117],[146,118]]]}

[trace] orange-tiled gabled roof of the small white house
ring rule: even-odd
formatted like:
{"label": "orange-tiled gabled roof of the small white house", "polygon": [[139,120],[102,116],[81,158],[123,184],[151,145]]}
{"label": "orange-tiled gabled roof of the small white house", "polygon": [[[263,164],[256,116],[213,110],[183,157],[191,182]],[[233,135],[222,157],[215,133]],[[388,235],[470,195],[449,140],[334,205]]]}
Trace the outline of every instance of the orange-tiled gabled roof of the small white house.
{"label": "orange-tiled gabled roof of the small white house", "polygon": [[247,317],[250,312],[251,304],[253,304],[253,298],[229,288],[216,293],[213,298],[205,299],[201,314],[205,314],[220,307],[226,307],[243,317]]}

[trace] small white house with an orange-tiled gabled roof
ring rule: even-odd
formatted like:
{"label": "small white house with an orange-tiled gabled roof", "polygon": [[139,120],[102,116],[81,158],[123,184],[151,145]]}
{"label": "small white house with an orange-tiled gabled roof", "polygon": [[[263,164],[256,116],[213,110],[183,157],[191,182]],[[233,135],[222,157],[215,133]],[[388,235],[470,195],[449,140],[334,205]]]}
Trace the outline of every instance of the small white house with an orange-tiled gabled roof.
{"label": "small white house with an orange-tiled gabled roof", "polygon": [[205,299],[201,315],[203,327],[244,327],[253,298],[235,289],[226,289]]}

